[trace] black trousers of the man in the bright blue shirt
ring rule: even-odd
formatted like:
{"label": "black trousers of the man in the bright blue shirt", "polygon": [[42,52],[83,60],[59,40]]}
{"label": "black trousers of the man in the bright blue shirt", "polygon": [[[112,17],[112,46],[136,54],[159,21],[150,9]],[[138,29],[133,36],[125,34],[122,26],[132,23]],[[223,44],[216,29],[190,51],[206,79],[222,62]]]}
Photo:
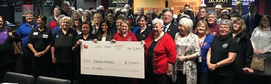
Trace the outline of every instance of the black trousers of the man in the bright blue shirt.
{"label": "black trousers of the man in the bright blue shirt", "polygon": [[22,57],[22,71],[24,74],[32,75],[34,72],[31,59],[33,52],[27,47],[22,47],[22,52],[24,53]]}

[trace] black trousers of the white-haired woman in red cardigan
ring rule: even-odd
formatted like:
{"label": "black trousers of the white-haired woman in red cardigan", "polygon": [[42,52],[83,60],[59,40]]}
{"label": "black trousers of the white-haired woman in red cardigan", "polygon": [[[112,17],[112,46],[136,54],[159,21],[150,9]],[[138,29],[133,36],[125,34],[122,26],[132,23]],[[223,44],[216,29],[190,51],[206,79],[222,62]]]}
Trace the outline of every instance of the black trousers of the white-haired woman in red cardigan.
{"label": "black trousers of the white-haired woman in red cardigan", "polygon": [[146,74],[146,84],[167,84],[167,75]]}

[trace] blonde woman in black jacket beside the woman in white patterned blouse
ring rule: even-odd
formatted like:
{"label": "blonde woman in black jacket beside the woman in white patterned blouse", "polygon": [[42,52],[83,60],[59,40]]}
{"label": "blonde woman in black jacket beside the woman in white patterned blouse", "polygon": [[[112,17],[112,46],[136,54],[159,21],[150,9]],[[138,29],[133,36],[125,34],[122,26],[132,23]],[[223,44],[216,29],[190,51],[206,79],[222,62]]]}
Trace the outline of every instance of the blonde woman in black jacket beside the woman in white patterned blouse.
{"label": "blonde woman in black jacket beside the woman in white patterned blouse", "polygon": [[[231,30],[231,33],[233,34],[233,39],[235,39],[239,45],[239,49],[235,57],[235,69],[254,72],[253,69],[250,69],[253,47],[250,41],[250,35],[246,33],[246,29],[246,23],[243,19],[237,18],[233,21],[233,29]],[[240,79],[243,78],[243,75],[238,73],[234,77],[238,77],[234,80],[234,84],[245,81]]]}

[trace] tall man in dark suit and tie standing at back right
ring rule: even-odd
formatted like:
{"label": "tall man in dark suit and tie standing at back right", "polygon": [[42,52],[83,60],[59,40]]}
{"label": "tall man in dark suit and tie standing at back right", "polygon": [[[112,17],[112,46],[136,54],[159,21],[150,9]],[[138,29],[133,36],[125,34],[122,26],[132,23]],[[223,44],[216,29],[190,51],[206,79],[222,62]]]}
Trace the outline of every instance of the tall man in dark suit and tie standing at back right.
{"label": "tall man in dark suit and tie standing at back right", "polygon": [[252,34],[253,30],[259,26],[260,20],[262,19],[263,15],[257,13],[257,4],[254,1],[249,3],[249,13],[242,16],[242,19],[245,20],[247,30],[246,32],[250,35]]}

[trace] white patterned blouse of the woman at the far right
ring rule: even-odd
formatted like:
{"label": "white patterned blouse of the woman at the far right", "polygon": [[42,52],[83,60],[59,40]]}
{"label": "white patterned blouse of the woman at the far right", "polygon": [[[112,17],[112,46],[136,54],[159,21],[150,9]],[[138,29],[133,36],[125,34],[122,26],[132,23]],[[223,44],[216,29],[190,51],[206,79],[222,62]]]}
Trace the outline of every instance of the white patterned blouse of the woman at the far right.
{"label": "white patterned blouse of the woman at the far right", "polygon": [[264,50],[266,53],[271,53],[271,30],[264,31],[257,27],[254,29],[252,36],[250,38],[253,48],[257,50]]}

